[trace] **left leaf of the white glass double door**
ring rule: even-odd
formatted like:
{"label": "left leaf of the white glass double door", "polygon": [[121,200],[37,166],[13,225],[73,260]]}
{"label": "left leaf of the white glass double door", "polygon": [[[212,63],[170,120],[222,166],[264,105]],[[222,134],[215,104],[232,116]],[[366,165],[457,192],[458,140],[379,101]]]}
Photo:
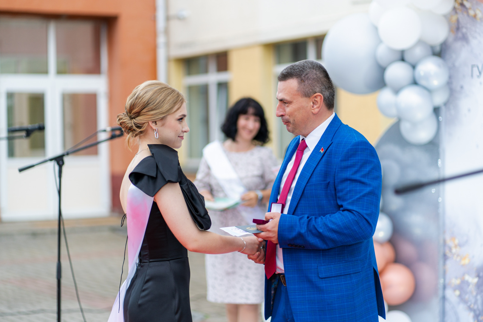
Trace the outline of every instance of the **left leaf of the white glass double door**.
{"label": "left leaf of the white glass double door", "polygon": [[[0,136],[7,136],[10,126],[44,123],[48,91],[31,86],[1,86]],[[48,126],[46,126],[48,127]],[[0,205],[2,220],[35,220],[51,212],[54,198],[52,168],[42,165],[26,171],[18,168],[43,159],[51,148],[49,135],[34,132],[28,139],[0,141]]]}

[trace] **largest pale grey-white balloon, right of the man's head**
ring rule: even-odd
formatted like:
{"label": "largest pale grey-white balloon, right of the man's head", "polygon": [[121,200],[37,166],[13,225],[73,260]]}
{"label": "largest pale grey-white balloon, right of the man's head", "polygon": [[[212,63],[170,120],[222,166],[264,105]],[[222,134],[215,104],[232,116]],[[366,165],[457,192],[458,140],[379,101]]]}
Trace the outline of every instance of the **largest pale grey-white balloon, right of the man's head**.
{"label": "largest pale grey-white balloon, right of the man's head", "polygon": [[368,14],[351,14],[339,20],[322,45],[324,66],[333,82],[355,94],[382,88],[384,69],[374,55],[380,43]]}

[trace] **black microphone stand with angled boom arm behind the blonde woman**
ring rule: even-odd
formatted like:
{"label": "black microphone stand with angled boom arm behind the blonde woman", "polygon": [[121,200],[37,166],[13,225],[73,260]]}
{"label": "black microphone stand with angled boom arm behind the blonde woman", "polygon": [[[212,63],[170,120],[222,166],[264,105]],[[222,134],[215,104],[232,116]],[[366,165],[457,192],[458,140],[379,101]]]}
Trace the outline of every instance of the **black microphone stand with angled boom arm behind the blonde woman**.
{"label": "black microphone stand with angled boom arm behind the blonde woman", "polygon": [[57,273],[56,273],[56,278],[57,278],[57,322],[61,322],[60,321],[60,304],[61,304],[61,296],[60,296],[60,285],[61,285],[61,283],[60,283],[60,281],[61,281],[61,278],[62,278],[62,267],[60,265],[60,240],[61,240],[61,238],[60,238],[61,237],[60,224],[61,224],[61,219],[62,219],[62,210],[60,208],[60,204],[61,204],[60,203],[60,200],[61,200],[60,199],[60,197],[61,197],[60,192],[61,192],[62,166],[64,165],[64,156],[67,156],[69,154],[73,154],[73,153],[88,149],[90,147],[96,146],[99,143],[102,143],[102,142],[105,142],[105,141],[109,141],[109,140],[113,140],[115,138],[122,137],[123,135],[124,135],[124,132],[122,130],[119,131],[118,133],[111,132],[111,136],[107,139],[92,142],[92,143],[83,145],[83,146],[76,148],[76,149],[73,149],[73,150],[67,150],[67,151],[65,151],[61,154],[54,155],[50,158],[44,159],[44,160],[39,161],[37,163],[31,164],[29,166],[18,168],[18,172],[22,172],[22,171],[25,171],[29,168],[33,168],[35,166],[38,166],[38,165],[43,164],[43,163],[48,162],[48,161],[56,161],[57,166],[58,166],[58,181],[59,181],[59,184],[58,184],[58,191],[57,191],[57,193],[58,193],[58,223],[57,223]]}

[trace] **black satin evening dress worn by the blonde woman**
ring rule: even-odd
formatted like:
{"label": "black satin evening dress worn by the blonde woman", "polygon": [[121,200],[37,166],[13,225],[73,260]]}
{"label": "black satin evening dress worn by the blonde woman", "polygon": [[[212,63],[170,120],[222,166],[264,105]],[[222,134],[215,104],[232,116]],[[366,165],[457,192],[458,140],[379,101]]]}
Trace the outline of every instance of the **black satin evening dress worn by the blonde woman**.
{"label": "black satin evening dress worn by the blonde woman", "polygon": [[[154,196],[166,183],[179,182],[193,220],[199,229],[209,229],[211,220],[204,198],[181,170],[176,150],[162,144],[148,147],[152,155],[142,159],[129,174],[131,183]],[[187,250],[153,201],[139,263],[124,298],[124,321],[192,322],[189,278]]]}

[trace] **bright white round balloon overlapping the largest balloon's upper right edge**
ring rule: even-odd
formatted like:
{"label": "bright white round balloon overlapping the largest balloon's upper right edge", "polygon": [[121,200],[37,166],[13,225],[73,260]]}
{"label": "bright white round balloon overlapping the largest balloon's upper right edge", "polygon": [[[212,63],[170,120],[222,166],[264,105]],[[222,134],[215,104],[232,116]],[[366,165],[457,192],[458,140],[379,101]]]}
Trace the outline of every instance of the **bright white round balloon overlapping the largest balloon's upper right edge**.
{"label": "bright white round balloon overlapping the largest balloon's upper right edge", "polygon": [[421,19],[410,8],[392,8],[381,16],[378,32],[381,40],[390,48],[408,49],[421,37]]}

